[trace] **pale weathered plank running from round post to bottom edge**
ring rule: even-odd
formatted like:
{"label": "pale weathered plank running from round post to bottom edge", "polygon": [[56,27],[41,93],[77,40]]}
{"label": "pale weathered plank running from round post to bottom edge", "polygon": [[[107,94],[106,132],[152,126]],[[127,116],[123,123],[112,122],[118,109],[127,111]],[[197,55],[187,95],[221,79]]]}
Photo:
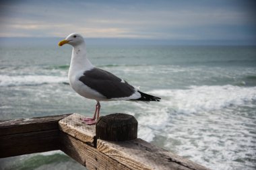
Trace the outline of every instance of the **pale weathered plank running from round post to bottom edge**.
{"label": "pale weathered plank running from round post to bottom edge", "polygon": [[131,169],[207,169],[139,138],[125,142],[97,140],[97,149]]}

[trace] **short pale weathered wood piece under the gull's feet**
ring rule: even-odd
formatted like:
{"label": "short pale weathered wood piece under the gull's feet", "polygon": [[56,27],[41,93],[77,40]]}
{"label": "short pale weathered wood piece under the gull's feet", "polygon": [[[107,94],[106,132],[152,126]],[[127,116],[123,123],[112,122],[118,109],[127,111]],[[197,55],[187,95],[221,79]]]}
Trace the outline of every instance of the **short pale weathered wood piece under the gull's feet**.
{"label": "short pale weathered wood piece under the gull's feet", "polygon": [[59,121],[59,129],[70,136],[95,146],[96,125],[85,124],[84,120],[81,120],[83,118],[86,117],[79,114],[71,114]]}

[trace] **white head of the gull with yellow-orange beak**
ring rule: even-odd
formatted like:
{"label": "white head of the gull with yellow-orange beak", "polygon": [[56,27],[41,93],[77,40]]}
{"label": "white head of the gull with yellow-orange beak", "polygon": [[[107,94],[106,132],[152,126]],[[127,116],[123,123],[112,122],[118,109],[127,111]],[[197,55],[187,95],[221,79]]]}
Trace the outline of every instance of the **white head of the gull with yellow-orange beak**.
{"label": "white head of the gull with yellow-orange beak", "polygon": [[59,46],[63,46],[64,44],[69,44],[71,46],[78,46],[84,43],[84,38],[77,33],[72,33],[65,40],[59,42]]}

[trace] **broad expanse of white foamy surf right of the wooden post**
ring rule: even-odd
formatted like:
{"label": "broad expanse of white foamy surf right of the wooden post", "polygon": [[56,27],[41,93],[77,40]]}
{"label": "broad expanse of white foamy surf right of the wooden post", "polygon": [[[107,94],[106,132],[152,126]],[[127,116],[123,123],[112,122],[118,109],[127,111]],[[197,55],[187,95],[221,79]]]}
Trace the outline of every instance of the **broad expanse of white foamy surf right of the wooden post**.
{"label": "broad expanse of white foamy surf right of the wooden post", "polygon": [[247,161],[255,153],[256,137],[248,114],[255,108],[256,87],[203,85],[147,93],[162,100],[135,103],[139,138],[161,140],[165,148],[211,169],[254,166]]}

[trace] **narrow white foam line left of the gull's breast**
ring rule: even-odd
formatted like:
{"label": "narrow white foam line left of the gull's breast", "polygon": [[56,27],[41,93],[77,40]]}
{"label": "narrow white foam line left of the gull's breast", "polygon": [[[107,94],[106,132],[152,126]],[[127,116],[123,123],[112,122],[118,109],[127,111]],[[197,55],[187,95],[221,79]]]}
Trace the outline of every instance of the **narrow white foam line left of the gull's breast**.
{"label": "narrow white foam line left of the gull's breast", "polygon": [[42,85],[45,83],[67,82],[67,77],[51,75],[0,75],[0,86]]}

